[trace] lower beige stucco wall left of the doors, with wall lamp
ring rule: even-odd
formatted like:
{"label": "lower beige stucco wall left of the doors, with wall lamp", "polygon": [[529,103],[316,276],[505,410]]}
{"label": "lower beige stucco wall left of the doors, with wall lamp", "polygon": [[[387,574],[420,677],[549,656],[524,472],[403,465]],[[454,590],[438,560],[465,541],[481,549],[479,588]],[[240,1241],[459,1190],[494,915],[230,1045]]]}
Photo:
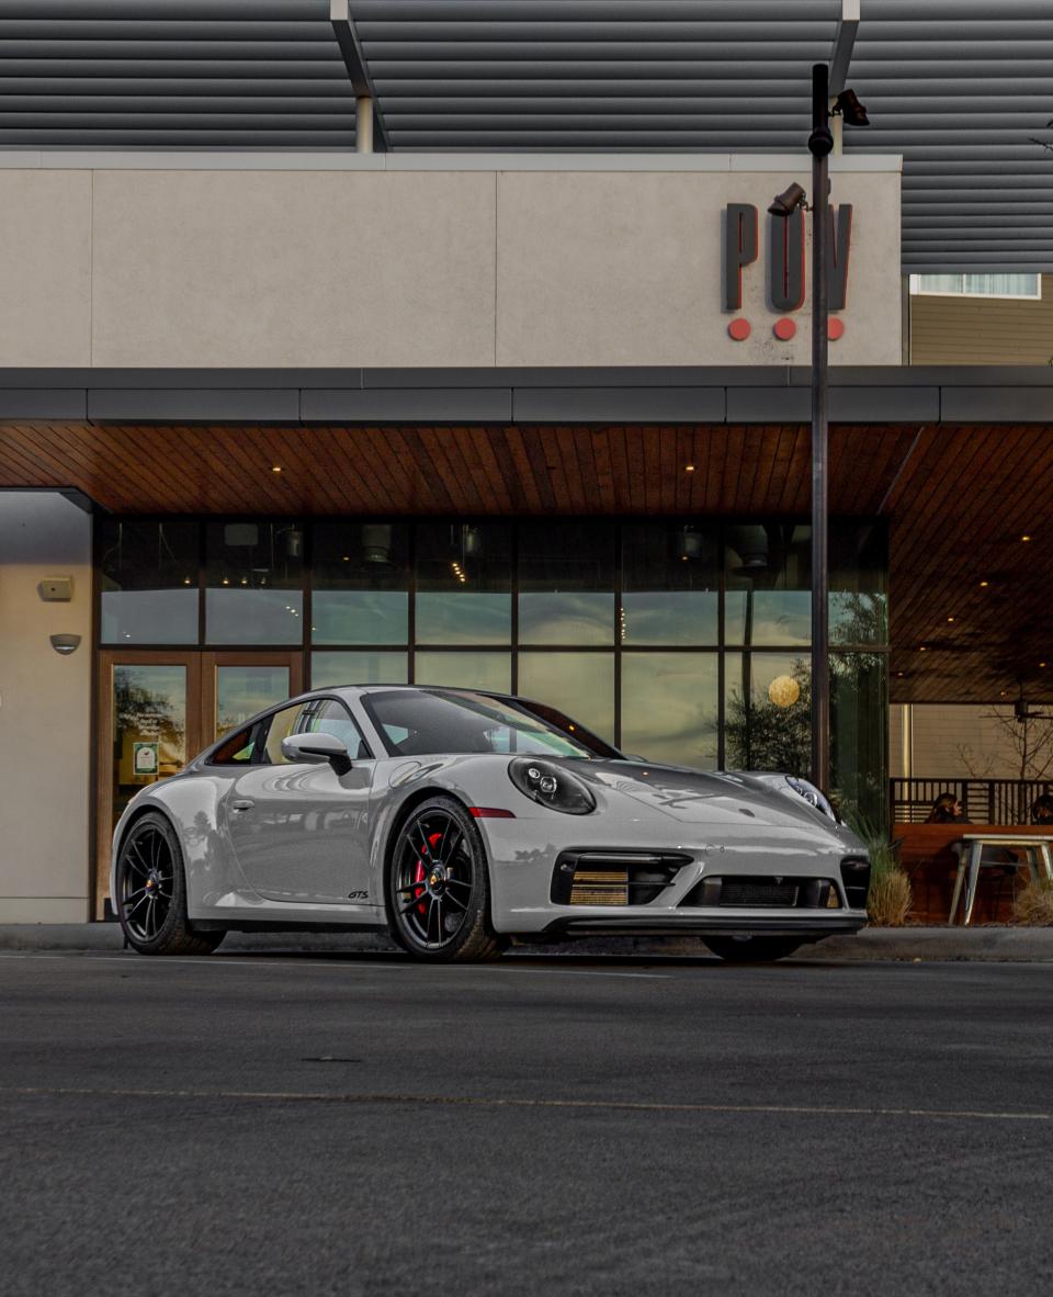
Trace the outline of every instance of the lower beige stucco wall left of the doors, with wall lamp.
{"label": "lower beige stucco wall left of the doors, with wall lamp", "polygon": [[[45,576],[73,577],[73,601],[43,603]],[[0,492],[0,923],[88,917],[91,664],[91,519]]]}

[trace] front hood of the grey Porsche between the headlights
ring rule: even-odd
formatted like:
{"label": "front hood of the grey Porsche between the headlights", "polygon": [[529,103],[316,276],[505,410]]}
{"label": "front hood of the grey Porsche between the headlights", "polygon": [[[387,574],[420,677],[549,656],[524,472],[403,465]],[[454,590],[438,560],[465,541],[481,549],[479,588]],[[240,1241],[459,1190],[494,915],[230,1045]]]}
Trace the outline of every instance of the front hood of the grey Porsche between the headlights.
{"label": "front hood of the grey Porsche between the headlights", "polygon": [[683,824],[720,825],[729,831],[742,829],[747,833],[761,826],[805,829],[838,838],[846,831],[788,786],[782,792],[748,774],[635,761],[574,763],[573,768],[586,782],[594,781],[608,792]]}

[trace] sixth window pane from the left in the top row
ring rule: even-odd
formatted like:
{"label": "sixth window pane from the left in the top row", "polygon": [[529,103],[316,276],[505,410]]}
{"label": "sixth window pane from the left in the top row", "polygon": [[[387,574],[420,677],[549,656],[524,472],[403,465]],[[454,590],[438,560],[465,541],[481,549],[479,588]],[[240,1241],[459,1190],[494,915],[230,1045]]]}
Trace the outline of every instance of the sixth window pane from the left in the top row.
{"label": "sixth window pane from the left in the top row", "polygon": [[621,642],[716,645],[717,537],[695,523],[626,523]]}

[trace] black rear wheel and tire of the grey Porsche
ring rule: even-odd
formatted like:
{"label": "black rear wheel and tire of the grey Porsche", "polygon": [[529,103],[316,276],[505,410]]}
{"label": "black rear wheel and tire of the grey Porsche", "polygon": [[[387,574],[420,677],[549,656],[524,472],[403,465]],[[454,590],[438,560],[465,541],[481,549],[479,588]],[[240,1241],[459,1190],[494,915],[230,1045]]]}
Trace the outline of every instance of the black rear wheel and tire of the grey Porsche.
{"label": "black rear wheel and tire of the grey Porsche", "polygon": [[117,916],[140,955],[211,955],[226,933],[196,933],[187,918],[187,873],[171,824],[149,811],[117,857]]}

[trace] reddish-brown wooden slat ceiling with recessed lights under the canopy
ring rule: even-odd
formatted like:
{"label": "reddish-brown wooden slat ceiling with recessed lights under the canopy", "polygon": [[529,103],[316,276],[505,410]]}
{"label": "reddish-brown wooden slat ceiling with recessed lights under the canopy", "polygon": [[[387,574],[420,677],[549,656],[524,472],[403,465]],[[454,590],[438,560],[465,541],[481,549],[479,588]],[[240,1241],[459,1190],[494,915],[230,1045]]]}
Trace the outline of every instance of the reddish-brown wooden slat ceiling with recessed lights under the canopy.
{"label": "reddish-brown wooden slat ceiling with recessed lights under the canopy", "polygon": [[[807,518],[809,431],[19,423],[4,486],[121,514]],[[890,521],[895,700],[1053,700],[1053,428],[838,425],[830,508]]]}

